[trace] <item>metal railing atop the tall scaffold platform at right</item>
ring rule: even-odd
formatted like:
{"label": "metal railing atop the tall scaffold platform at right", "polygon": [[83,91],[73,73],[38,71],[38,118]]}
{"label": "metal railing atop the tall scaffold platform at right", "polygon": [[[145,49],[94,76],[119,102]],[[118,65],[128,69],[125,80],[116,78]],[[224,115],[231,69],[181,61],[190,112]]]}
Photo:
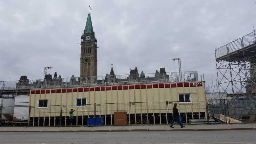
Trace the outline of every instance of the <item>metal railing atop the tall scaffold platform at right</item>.
{"label": "metal railing atop the tall scaffold platform at right", "polygon": [[227,55],[231,52],[240,50],[242,48],[245,48],[249,45],[255,44],[256,43],[256,37],[255,34],[256,31],[251,32],[245,36],[243,36],[242,38],[239,38],[237,40],[234,40],[231,43],[228,43],[227,45],[224,45],[218,49],[215,50],[215,58],[220,58],[224,55]]}

